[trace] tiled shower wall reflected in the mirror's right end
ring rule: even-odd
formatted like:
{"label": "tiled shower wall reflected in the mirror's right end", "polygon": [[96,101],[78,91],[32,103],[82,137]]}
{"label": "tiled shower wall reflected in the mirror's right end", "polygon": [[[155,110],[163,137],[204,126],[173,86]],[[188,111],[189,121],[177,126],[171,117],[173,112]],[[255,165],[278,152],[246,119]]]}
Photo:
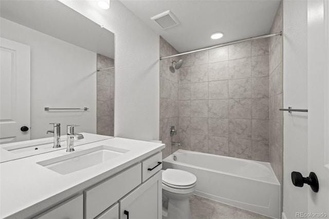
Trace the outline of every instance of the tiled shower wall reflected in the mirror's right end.
{"label": "tiled shower wall reflected in the mirror's right end", "polygon": [[[97,54],[97,69],[113,66],[113,59]],[[114,68],[97,72],[97,134],[114,136]]]}

